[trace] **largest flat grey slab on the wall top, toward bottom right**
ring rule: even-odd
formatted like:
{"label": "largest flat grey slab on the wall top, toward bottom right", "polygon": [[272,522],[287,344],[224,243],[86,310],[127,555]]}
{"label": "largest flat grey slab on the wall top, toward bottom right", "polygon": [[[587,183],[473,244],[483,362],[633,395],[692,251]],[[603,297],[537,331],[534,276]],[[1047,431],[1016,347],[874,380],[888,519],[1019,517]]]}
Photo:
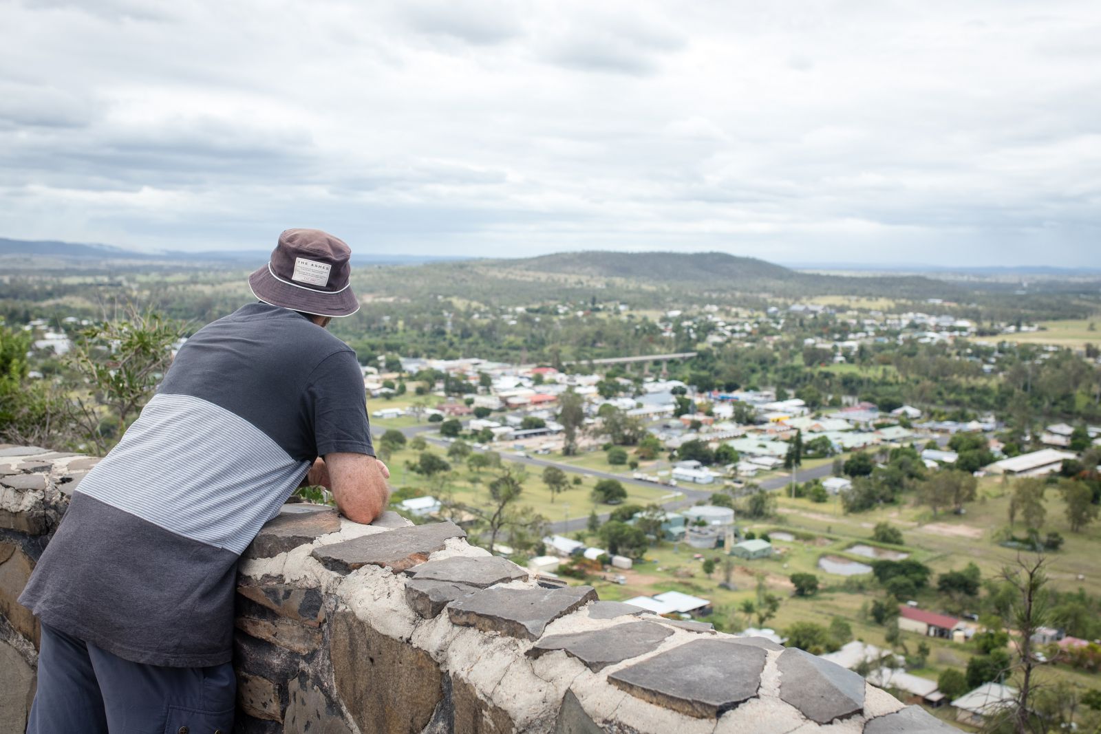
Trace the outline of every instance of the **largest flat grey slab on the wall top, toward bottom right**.
{"label": "largest flat grey slab on the wall top, toward bottom right", "polygon": [[755,698],[765,651],[724,639],[694,639],[617,670],[609,682],[659,706],[716,719]]}

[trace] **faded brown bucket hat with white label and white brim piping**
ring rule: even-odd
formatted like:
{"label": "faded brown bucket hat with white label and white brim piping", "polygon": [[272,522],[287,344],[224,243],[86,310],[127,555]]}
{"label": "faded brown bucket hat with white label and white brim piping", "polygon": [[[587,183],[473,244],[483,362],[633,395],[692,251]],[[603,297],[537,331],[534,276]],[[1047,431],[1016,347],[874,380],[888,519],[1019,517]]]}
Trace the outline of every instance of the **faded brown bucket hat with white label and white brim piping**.
{"label": "faded brown bucket hat with white label and white brim piping", "polygon": [[249,276],[252,295],[265,304],[315,316],[351,316],[351,249],[319,229],[288,229],[279,235],[268,264]]}

